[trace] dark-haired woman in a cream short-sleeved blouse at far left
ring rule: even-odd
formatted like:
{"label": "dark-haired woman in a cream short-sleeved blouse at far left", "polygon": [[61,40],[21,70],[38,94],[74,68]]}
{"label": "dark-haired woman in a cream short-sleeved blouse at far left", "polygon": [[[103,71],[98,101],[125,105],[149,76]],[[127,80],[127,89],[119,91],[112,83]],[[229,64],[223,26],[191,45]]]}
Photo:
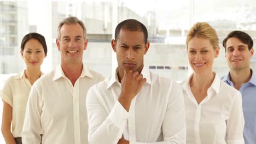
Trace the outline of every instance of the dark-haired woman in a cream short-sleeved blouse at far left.
{"label": "dark-haired woman in a cream short-sleeved blouse at far left", "polygon": [[[40,66],[47,54],[43,35],[28,33],[21,41],[21,56],[26,69],[11,76],[1,91],[3,100],[2,134],[6,143],[22,143],[21,131],[24,123],[28,95],[33,83],[43,75]],[[10,129],[11,127],[11,129]]]}

